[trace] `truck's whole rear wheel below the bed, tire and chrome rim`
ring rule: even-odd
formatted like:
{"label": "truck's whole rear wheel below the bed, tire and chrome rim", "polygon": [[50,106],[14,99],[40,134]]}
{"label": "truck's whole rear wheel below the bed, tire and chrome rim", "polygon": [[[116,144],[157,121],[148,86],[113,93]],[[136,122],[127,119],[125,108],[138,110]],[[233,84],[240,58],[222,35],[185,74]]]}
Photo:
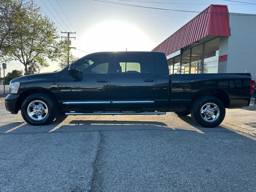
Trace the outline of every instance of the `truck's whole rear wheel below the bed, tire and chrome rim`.
{"label": "truck's whole rear wheel below the bed, tire and chrome rim", "polygon": [[223,102],[213,96],[197,99],[191,110],[192,119],[202,127],[217,127],[222,123],[225,114]]}

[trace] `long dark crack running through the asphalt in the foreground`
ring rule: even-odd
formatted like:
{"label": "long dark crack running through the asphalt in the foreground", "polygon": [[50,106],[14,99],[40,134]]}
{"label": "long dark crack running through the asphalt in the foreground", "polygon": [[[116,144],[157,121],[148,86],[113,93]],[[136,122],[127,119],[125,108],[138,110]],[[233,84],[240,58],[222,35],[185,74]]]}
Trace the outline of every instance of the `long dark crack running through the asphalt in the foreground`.
{"label": "long dark crack running through the asphalt in the foreground", "polygon": [[100,159],[100,155],[102,153],[103,150],[103,143],[104,143],[104,138],[103,138],[103,133],[100,131],[100,143],[98,145],[98,150],[97,150],[97,154],[96,154],[96,158],[94,160],[93,163],[93,168],[94,168],[94,172],[92,174],[92,180],[91,180],[91,185],[90,185],[90,192],[96,192],[97,190],[97,186],[99,186],[99,181],[98,181],[98,167],[99,167],[99,159]]}

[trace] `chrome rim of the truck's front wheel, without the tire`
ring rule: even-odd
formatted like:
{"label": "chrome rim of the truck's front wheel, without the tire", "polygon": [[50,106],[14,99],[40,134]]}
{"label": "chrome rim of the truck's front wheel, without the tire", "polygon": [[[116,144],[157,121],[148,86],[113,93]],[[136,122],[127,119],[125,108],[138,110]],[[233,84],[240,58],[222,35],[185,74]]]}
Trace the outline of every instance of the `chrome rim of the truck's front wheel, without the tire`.
{"label": "chrome rim of the truck's front wheel, without the tire", "polygon": [[31,119],[41,121],[46,118],[48,107],[43,101],[34,100],[28,105],[27,113]]}

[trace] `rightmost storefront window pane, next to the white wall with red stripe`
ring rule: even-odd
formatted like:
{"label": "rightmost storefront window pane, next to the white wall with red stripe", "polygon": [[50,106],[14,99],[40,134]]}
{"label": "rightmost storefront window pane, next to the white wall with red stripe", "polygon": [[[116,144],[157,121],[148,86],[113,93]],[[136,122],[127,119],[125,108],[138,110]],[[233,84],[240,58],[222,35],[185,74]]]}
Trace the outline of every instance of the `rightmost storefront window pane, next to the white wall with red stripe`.
{"label": "rightmost storefront window pane, next to the white wall with red stripe", "polygon": [[218,73],[219,37],[204,44],[203,73]]}

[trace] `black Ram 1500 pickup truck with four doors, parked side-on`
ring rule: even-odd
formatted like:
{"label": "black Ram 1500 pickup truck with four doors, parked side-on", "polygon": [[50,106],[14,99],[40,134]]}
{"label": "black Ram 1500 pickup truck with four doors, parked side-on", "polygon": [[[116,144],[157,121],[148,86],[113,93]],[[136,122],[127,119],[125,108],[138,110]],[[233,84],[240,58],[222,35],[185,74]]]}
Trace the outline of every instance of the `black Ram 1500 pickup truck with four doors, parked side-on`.
{"label": "black Ram 1500 pickup truck with four doors, parked side-on", "polygon": [[31,125],[57,115],[191,114],[202,127],[216,127],[225,108],[254,105],[250,73],[169,75],[161,52],[100,52],[61,71],[22,76],[10,82],[7,111],[21,110]]}

